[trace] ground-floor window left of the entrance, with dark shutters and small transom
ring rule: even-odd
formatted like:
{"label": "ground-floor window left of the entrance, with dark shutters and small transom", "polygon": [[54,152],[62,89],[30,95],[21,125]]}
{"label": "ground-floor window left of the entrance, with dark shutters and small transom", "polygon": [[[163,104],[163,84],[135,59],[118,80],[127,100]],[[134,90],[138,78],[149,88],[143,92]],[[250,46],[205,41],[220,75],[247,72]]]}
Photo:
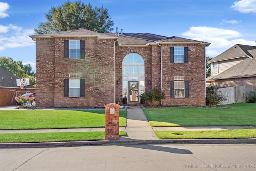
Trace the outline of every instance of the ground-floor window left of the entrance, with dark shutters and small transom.
{"label": "ground-floor window left of the entrance, with dark shutters and small transom", "polygon": [[69,79],[64,79],[64,97],[84,97],[84,88],[84,79],[80,79],[80,74],[70,74]]}

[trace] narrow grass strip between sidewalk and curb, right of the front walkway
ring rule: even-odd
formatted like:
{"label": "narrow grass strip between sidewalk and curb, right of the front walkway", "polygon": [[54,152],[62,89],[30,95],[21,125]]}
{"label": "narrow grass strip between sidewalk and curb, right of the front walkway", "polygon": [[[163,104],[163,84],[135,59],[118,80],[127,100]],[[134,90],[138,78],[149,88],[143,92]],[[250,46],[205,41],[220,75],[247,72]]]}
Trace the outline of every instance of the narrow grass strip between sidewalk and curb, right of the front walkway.
{"label": "narrow grass strip between sidewalk and curb, right of the front walkway", "polygon": [[220,131],[155,131],[159,139],[256,138],[256,129]]}

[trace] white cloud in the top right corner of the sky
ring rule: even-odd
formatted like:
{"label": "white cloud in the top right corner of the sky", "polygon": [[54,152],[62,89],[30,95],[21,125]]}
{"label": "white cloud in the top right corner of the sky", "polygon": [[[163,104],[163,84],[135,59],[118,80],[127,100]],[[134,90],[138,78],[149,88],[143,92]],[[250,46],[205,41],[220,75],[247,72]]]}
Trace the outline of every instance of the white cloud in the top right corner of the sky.
{"label": "white cloud in the top right corner of the sky", "polygon": [[235,1],[231,7],[242,13],[256,13],[256,0]]}

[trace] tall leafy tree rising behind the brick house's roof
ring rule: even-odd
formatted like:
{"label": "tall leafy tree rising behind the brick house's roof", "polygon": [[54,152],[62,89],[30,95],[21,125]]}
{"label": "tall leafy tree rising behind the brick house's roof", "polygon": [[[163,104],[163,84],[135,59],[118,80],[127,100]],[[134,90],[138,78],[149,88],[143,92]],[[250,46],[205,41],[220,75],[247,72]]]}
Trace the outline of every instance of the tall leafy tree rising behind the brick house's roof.
{"label": "tall leafy tree rising behind the brick house's roof", "polygon": [[84,28],[99,33],[111,32],[114,22],[108,15],[108,10],[103,8],[92,9],[88,5],[75,1],[65,2],[58,7],[52,7],[45,14],[46,22],[40,22],[38,28],[34,28],[36,34],[53,33],[71,29]]}

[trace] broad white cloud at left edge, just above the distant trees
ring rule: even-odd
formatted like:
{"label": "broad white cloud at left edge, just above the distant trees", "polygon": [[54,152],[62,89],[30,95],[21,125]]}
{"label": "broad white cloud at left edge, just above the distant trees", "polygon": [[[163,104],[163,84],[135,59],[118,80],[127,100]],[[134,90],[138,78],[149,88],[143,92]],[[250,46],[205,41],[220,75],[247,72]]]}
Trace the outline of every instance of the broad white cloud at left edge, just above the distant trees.
{"label": "broad white cloud at left edge, just above the distant trees", "polygon": [[28,37],[29,35],[34,34],[33,29],[22,29],[21,27],[14,26],[12,24],[8,26],[0,25],[0,29],[0,50],[35,45],[34,41]]}

